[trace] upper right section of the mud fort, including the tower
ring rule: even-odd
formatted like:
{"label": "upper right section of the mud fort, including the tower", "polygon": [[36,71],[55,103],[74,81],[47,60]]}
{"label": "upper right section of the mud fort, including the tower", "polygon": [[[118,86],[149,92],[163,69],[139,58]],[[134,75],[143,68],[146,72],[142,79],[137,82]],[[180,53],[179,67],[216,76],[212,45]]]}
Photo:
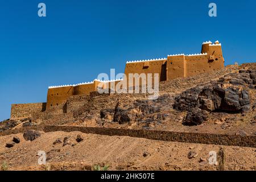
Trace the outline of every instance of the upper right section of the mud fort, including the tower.
{"label": "upper right section of the mud fort, including the tower", "polygon": [[125,67],[125,75],[128,76],[129,73],[159,73],[159,81],[166,81],[216,71],[220,68],[224,68],[221,44],[207,42],[203,43],[201,53],[197,55],[168,55],[167,59],[128,62]]}

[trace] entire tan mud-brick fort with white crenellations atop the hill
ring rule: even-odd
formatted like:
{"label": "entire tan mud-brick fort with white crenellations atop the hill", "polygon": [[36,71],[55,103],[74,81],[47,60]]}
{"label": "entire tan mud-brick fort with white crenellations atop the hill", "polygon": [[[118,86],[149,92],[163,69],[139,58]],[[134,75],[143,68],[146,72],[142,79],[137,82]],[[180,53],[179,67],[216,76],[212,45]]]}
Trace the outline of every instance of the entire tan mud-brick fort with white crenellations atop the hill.
{"label": "entire tan mud-brick fort with white crenellations atop the hill", "polygon": [[[125,75],[129,73],[158,73],[159,81],[168,81],[178,77],[190,77],[204,72],[224,68],[221,44],[216,41],[203,42],[201,53],[185,55],[183,53],[168,55],[162,59],[127,61]],[[110,88],[110,84],[117,84],[122,80],[101,81],[94,80],[76,85],[49,86],[46,103],[13,104],[11,118],[31,117],[32,113],[40,113],[51,107],[65,105],[68,98],[75,95],[90,95],[97,91],[98,85]]]}

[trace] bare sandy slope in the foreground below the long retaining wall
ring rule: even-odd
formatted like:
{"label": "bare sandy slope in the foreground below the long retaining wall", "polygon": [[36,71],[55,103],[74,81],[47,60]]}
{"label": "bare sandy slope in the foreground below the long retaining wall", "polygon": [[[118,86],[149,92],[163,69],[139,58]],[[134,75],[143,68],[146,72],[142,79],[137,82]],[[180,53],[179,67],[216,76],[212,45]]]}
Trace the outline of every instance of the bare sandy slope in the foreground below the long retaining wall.
{"label": "bare sandy slope in the foreground below the long retaining wall", "polygon": [[[77,134],[84,140],[76,142]],[[5,147],[13,137],[20,143]],[[71,137],[71,143],[53,145],[60,138]],[[0,137],[0,162],[6,161],[9,170],[90,170],[94,165],[109,165],[109,170],[218,170],[220,164],[209,164],[209,152],[224,147],[225,170],[255,170],[256,148],[217,146],[210,144],[164,142],[143,138],[65,133],[43,133],[34,141],[26,141],[23,134]],[[47,154],[47,167],[38,164],[38,151]],[[188,159],[190,151],[195,158]],[[147,156],[143,156],[144,152]],[[200,162],[200,158],[205,160]],[[223,158],[222,158],[223,159]]]}

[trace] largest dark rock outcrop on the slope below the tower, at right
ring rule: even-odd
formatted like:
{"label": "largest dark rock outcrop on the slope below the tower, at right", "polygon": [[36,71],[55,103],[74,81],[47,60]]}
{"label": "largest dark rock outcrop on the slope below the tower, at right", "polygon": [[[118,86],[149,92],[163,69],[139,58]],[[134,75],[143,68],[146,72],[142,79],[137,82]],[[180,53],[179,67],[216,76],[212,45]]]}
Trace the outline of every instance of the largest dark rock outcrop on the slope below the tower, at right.
{"label": "largest dark rock outcrop on the slope below the tower, at right", "polygon": [[249,89],[254,88],[255,71],[229,73],[219,80],[199,85],[175,98],[174,108],[189,111],[196,107],[206,111],[244,113],[250,110]]}

